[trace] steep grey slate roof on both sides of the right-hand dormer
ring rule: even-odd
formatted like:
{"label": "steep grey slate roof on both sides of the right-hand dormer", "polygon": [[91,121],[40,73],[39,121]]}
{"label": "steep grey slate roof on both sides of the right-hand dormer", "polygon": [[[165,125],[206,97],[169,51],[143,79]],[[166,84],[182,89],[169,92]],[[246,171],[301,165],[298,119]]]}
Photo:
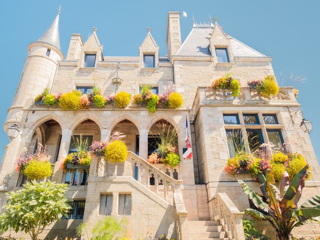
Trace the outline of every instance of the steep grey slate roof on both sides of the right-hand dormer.
{"label": "steep grey slate roof on both sides of the right-hand dormer", "polygon": [[[193,26],[189,35],[185,38],[180,49],[176,53],[179,56],[210,56],[211,52],[209,50],[209,40],[208,37],[212,33],[211,26],[207,27],[197,27]],[[239,40],[230,37],[230,43],[233,51],[233,56],[246,56],[246,57],[263,57],[264,54],[252,49],[251,47],[245,45]]]}

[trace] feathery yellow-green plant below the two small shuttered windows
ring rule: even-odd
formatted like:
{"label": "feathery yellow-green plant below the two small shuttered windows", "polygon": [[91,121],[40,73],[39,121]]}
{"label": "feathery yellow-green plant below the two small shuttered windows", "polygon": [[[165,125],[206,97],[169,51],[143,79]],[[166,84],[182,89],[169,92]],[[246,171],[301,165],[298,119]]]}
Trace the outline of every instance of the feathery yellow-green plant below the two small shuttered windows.
{"label": "feathery yellow-green plant below the two small shuttered windows", "polygon": [[92,236],[89,238],[86,230],[86,223],[81,223],[76,228],[76,233],[86,235],[88,240],[113,240],[121,239],[124,233],[124,226],[127,224],[126,218],[118,222],[113,216],[106,216],[103,220],[98,221],[92,228]]}

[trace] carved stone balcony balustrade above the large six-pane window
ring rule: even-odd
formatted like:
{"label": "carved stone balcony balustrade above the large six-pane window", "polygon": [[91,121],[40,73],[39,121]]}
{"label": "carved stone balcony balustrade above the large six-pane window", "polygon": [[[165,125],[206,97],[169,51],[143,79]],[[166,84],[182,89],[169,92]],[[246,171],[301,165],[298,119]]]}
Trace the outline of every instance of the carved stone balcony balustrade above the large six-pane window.
{"label": "carved stone balcony balustrade above the large six-pane window", "polygon": [[255,89],[240,87],[240,93],[234,97],[230,89],[211,89],[198,87],[193,112],[196,113],[200,105],[298,105],[293,93],[293,87],[279,87],[279,92],[271,97],[264,97]]}

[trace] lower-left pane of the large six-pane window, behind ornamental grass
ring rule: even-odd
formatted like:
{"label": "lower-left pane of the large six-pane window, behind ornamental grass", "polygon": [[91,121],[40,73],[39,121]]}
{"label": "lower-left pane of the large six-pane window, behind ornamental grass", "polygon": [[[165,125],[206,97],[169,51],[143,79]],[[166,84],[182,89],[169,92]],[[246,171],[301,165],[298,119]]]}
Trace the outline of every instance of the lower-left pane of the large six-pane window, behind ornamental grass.
{"label": "lower-left pane of the large six-pane window, behind ornamental grass", "polygon": [[228,144],[229,157],[234,157],[237,153],[244,150],[241,129],[226,129],[225,134]]}

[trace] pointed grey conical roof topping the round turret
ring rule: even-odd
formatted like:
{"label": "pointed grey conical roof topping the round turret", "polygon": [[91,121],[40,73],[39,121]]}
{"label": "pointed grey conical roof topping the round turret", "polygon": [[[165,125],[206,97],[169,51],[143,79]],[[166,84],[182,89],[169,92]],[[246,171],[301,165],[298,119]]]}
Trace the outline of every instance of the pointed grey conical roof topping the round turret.
{"label": "pointed grey conical roof topping the round turret", "polygon": [[55,46],[60,49],[60,37],[59,37],[59,15],[61,11],[61,6],[58,9],[57,15],[53,20],[52,24],[49,28],[43,33],[43,35],[37,40],[45,43],[49,43],[50,45]]}

